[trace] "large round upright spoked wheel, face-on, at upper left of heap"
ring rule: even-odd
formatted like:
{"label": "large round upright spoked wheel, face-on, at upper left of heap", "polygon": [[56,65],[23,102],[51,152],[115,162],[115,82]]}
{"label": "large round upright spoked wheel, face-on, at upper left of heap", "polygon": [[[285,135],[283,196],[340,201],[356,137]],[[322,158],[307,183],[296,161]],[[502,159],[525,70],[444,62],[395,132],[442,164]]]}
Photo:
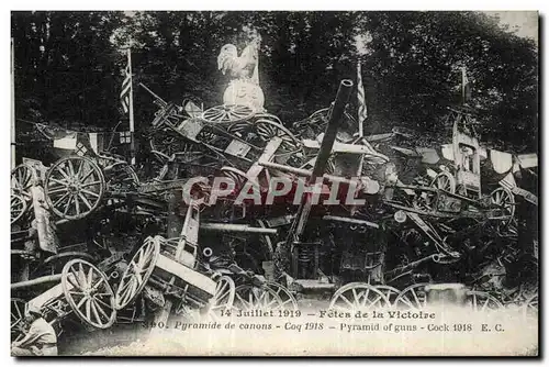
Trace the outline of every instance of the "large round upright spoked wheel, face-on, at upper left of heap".
{"label": "large round upright spoked wheel, face-on, at upper left of heap", "polygon": [[101,169],[91,159],[66,157],[49,168],[44,187],[47,204],[55,214],[78,220],[99,207],[105,180]]}

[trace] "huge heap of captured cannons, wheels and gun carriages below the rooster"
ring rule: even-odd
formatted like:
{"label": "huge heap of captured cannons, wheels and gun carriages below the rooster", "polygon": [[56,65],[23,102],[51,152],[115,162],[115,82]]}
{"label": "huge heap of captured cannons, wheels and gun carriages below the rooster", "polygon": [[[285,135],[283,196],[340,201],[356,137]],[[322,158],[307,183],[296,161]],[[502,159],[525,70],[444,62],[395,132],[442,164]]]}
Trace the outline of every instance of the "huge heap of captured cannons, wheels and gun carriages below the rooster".
{"label": "huge heap of captured cannons, wheels and gun carriages below the rooster", "polygon": [[[537,292],[505,297],[501,271],[485,270],[519,256],[516,202],[497,180],[481,188],[470,115],[449,111],[453,160],[411,169],[422,159],[406,154],[408,133],[355,133],[351,90],[343,80],[328,108],[294,123],[247,105],[189,112],[156,99],[149,156],[137,166],[108,152],[18,166],[12,337],[31,303],[59,333],[314,302],[350,312],[437,299],[479,312],[537,308]],[[224,194],[212,187],[219,177],[234,182]],[[295,187],[266,204],[273,178]],[[238,200],[247,182],[259,204]],[[295,189],[313,182],[316,201]],[[335,186],[341,202],[325,204]],[[348,191],[350,204],[338,194]]]}

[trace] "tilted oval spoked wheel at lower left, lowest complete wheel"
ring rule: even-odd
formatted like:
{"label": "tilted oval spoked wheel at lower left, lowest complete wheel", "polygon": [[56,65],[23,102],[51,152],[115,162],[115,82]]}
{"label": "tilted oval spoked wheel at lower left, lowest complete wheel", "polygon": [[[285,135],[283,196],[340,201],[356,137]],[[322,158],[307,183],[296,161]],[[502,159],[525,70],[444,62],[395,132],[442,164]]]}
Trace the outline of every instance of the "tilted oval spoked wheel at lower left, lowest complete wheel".
{"label": "tilted oval spoked wheel at lower left, lowest complete wheel", "polygon": [[114,292],[108,277],[88,262],[75,259],[63,268],[61,287],[72,311],[85,323],[110,327],[116,319]]}

